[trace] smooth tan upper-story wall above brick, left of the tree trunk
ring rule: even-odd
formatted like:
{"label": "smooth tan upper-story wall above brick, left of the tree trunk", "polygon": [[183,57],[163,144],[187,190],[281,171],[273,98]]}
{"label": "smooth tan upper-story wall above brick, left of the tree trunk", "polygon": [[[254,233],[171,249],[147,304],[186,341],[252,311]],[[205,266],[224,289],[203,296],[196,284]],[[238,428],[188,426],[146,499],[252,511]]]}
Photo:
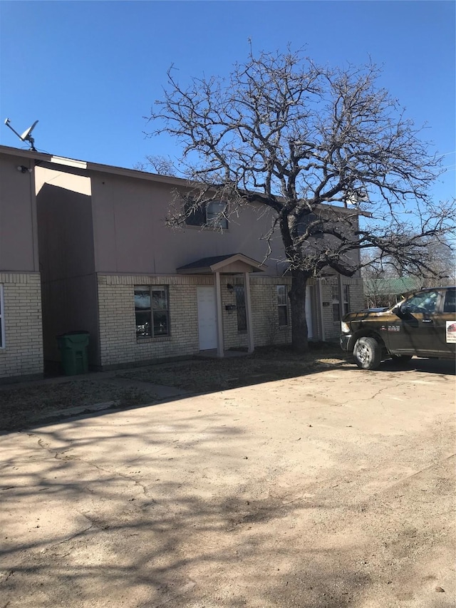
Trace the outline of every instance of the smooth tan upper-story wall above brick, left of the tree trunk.
{"label": "smooth tan upper-story wall above brick, left of the tree trunk", "polygon": [[[172,202],[167,184],[93,173],[92,197],[95,267],[100,273],[175,274],[178,267],[215,255],[244,253],[261,262],[268,250],[259,237],[271,227],[271,213],[258,207],[242,210],[242,221],[233,217],[221,233],[167,227]],[[267,274],[277,274],[275,260],[284,257],[279,238],[273,247]]]}

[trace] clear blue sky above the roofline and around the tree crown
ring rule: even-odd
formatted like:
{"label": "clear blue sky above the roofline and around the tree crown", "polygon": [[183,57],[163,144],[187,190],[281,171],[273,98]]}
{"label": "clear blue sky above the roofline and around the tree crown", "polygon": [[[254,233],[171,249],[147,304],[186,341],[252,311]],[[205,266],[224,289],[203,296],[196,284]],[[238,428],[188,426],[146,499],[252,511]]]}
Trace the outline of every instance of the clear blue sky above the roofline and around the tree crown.
{"label": "clear blue sky above the roofline and around the tree crown", "polygon": [[306,47],[317,63],[383,66],[382,84],[446,154],[435,197],[455,195],[453,1],[0,1],[0,143],[131,168],[177,156],[143,117],[171,63],[180,81],[229,73],[254,50]]}

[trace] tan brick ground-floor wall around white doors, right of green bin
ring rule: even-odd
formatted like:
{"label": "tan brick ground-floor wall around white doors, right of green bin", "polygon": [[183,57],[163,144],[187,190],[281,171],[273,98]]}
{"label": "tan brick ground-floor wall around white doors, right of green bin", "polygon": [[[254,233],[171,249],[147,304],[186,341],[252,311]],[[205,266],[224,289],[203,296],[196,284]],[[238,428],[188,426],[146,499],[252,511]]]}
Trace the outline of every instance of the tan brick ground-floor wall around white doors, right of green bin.
{"label": "tan brick ground-floor wall around white doors, right of green bin", "polygon": [[[100,364],[102,369],[121,364],[138,364],[158,359],[190,356],[199,352],[197,287],[214,285],[213,275],[135,276],[98,275],[98,314],[100,319]],[[337,280],[337,279],[336,279]],[[362,306],[360,279],[343,279],[351,285],[351,306]],[[222,316],[224,349],[247,346],[247,332],[237,329],[237,311],[225,306],[236,304],[236,296],[227,284],[239,284],[237,277],[222,275]],[[242,284],[242,281],[240,282]],[[250,276],[253,330],[255,346],[286,344],[291,341],[289,325],[279,327],[276,285],[291,285],[284,277]],[[167,285],[170,306],[170,336],[137,339],[135,331],[135,285]],[[318,334],[319,311],[316,306],[316,282],[310,281],[313,308],[314,339]],[[330,282],[322,288],[323,300],[331,298]],[[290,311],[289,311],[290,312]],[[334,323],[332,306],[323,308],[326,339],[336,339],[340,324]]]}

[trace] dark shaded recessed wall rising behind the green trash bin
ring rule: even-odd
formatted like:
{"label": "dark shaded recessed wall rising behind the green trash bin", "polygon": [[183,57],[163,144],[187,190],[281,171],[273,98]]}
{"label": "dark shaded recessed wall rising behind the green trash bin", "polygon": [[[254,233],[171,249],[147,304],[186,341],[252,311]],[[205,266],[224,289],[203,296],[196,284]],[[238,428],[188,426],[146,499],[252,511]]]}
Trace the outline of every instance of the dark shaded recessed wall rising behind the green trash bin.
{"label": "dark shaded recessed wall rising behind the green trash bin", "polygon": [[90,196],[44,184],[36,200],[44,358],[60,361],[56,336],[84,330],[90,333],[89,364],[96,366],[98,310]]}

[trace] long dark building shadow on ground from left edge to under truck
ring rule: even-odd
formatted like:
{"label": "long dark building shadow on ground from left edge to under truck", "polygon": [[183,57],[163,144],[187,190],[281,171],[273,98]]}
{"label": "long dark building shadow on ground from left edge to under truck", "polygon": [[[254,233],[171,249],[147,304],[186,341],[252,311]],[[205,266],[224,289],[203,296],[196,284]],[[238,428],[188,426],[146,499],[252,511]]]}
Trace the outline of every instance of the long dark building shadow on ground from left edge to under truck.
{"label": "long dark building shadow on ground from left edge to under truck", "polygon": [[[351,370],[356,365],[333,346],[319,344],[304,355],[288,347],[269,347],[239,358],[192,359],[82,378],[72,376],[24,386],[1,386],[0,432],[31,429],[75,416],[100,416],[113,409],[150,406],[182,396],[298,378],[328,369]],[[362,374],[408,369],[453,376],[456,373],[454,361],[449,360],[414,358],[407,364],[386,360],[378,370],[360,370],[360,381]]]}

